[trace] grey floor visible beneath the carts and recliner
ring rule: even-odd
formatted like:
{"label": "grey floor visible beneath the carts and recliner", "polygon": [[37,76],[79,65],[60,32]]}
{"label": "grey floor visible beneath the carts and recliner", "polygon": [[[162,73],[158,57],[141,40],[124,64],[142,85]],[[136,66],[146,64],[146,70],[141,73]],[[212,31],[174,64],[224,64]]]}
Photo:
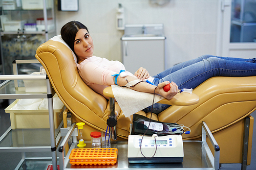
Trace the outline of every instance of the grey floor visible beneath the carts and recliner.
{"label": "grey floor visible beneath the carts and recliner", "polygon": [[[8,103],[2,104],[0,108],[0,136],[10,127],[10,117],[8,113],[5,113],[4,109],[8,106]],[[256,111],[251,114],[256,118]],[[247,166],[247,170],[256,169],[256,125],[253,128],[253,143],[252,143],[252,155],[251,155],[251,165]],[[26,154],[30,156],[31,153]],[[22,158],[20,153],[1,153],[0,152],[0,170],[12,170],[15,169],[20,159]],[[26,169],[26,167],[21,168]],[[36,167],[32,169],[37,169]],[[223,170],[239,170],[241,169],[241,164],[222,164],[221,169]]]}

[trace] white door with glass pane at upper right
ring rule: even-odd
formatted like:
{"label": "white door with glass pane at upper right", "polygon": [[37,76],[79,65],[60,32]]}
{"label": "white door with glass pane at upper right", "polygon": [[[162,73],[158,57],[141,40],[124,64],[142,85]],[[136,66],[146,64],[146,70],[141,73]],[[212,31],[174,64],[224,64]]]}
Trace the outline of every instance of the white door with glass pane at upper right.
{"label": "white door with glass pane at upper right", "polygon": [[256,57],[255,0],[219,0],[217,55]]}

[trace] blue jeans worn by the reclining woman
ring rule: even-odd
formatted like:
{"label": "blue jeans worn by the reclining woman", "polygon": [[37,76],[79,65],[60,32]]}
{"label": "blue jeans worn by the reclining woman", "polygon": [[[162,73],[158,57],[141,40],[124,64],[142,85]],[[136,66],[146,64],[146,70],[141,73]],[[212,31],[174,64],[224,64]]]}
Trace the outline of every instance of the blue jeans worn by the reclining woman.
{"label": "blue jeans worn by the reclining woman", "polygon": [[[153,83],[158,85],[164,81],[175,82],[179,89],[196,88],[205,80],[215,76],[246,77],[256,76],[256,59],[217,57],[204,55],[193,60],[179,63],[157,76]],[[170,105],[156,103],[153,113],[160,113]],[[143,111],[151,112],[152,106]]]}

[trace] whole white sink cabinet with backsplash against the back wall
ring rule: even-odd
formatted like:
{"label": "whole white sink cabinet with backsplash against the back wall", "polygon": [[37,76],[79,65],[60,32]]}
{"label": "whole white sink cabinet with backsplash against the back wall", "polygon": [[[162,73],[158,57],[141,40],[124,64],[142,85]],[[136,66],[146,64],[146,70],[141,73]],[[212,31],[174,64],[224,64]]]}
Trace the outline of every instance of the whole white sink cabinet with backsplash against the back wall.
{"label": "whole white sink cabinet with backsplash against the back wall", "polygon": [[163,24],[125,25],[122,62],[134,74],[140,67],[151,76],[165,70],[165,37]]}

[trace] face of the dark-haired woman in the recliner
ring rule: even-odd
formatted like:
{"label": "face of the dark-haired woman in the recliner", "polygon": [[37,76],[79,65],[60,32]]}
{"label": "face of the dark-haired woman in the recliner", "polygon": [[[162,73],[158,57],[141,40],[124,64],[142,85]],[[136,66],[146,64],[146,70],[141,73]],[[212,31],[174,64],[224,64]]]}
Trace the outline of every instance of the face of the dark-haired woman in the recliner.
{"label": "face of the dark-haired woman in the recliner", "polygon": [[80,29],[76,33],[74,52],[78,60],[93,56],[93,39],[86,29]]}

